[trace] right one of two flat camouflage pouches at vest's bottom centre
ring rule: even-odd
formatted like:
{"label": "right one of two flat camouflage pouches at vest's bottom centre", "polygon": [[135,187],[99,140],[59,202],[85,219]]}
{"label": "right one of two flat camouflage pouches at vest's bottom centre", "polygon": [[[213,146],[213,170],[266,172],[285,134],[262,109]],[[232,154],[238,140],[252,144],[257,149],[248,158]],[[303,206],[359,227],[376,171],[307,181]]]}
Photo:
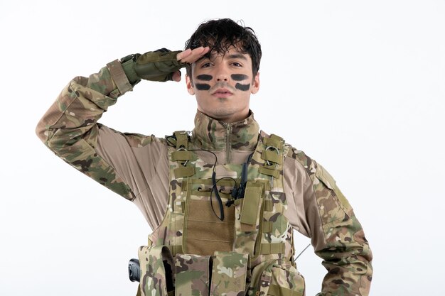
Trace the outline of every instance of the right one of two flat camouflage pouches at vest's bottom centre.
{"label": "right one of two flat camouflage pouches at vest's bottom centre", "polygon": [[210,295],[245,295],[249,254],[215,252]]}

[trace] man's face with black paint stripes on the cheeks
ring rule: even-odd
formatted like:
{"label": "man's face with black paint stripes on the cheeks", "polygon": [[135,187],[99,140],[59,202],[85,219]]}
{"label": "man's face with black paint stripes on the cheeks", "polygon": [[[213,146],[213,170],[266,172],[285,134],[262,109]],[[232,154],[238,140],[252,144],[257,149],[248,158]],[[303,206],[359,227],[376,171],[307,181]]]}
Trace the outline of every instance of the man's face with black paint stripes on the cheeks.
{"label": "man's face with black paint stripes on the cheeks", "polygon": [[210,55],[192,65],[186,76],[189,94],[194,94],[198,110],[213,119],[235,122],[249,115],[250,94],[259,89],[259,74],[252,75],[250,55],[230,48],[225,55]]}

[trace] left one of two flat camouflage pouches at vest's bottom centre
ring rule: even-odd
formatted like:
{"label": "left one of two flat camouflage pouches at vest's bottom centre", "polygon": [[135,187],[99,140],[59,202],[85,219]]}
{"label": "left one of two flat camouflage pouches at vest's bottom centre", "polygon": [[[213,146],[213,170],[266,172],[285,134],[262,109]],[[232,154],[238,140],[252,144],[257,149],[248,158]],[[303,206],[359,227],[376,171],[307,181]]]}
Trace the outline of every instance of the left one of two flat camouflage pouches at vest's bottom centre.
{"label": "left one of two flat camouflage pouches at vest's bottom centre", "polygon": [[211,256],[177,254],[176,296],[209,296]]}

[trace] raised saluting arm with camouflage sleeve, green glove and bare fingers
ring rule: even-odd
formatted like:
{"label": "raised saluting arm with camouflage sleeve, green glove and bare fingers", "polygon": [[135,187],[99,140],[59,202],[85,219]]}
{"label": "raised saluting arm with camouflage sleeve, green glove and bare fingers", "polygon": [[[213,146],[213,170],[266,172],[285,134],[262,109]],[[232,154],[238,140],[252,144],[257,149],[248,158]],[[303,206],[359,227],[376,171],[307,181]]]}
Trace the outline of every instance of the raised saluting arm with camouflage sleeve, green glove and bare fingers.
{"label": "raised saluting arm with camouflage sleeve, green glove and bare fingers", "polygon": [[[127,199],[134,199],[129,182],[98,153],[97,121],[109,106],[141,79],[154,81],[181,80],[179,69],[208,52],[196,48],[183,52],[156,50],[144,55],[129,55],[114,60],[90,77],[75,77],[63,89],[36,128],[38,137],[50,150],[80,170]],[[108,133],[109,134],[109,133]],[[146,136],[132,136],[131,141],[149,141]]]}

